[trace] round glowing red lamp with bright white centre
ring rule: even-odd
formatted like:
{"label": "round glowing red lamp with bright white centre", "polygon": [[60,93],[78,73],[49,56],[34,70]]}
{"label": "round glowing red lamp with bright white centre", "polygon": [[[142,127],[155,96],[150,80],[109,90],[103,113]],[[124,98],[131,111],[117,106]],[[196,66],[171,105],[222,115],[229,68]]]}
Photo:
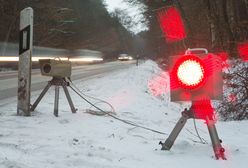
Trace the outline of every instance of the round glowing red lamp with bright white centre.
{"label": "round glowing red lamp with bright white centre", "polygon": [[173,71],[178,84],[184,89],[199,87],[206,76],[204,63],[194,55],[186,55],[178,59]]}

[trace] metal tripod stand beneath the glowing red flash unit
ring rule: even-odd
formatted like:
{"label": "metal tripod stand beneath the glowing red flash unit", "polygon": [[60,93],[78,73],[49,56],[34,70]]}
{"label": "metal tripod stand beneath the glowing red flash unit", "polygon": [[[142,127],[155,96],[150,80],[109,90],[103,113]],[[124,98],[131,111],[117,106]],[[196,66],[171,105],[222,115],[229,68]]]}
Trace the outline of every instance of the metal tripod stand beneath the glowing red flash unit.
{"label": "metal tripod stand beneath the glowing red flash unit", "polygon": [[[192,103],[192,106],[193,106],[193,103]],[[179,133],[183,129],[184,125],[186,124],[187,120],[190,118],[196,118],[195,117],[195,111],[193,110],[192,106],[189,110],[184,109],[184,111],[182,112],[181,118],[179,119],[176,126],[174,127],[174,129],[170,133],[169,137],[166,139],[166,141],[164,143],[162,143],[162,142],[159,143],[160,145],[162,145],[161,150],[170,150],[172,145],[174,144],[177,136],[179,135]],[[199,119],[199,118],[196,118],[196,119]],[[209,119],[209,116],[205,116],[204,119],[206,120],[206,123],[207,123],[208,132],[209,132],[209,135],[211,138],[211,142],[212,142],[212,146],[213,146],[213,150],[214,150],[214,154],[215,154],[216,159],[221,158],[223,160],[226,160],[226,157],[224,154],[225,149],[221,146],[221,140],[219,139],[219,136],[218,136],[213,119]]]}

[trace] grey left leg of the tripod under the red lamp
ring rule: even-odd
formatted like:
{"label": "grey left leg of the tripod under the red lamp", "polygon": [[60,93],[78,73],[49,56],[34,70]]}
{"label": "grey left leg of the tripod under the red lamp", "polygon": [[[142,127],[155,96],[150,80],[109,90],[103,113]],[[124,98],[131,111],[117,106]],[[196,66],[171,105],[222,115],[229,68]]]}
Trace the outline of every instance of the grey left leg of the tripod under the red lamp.
{"label": "grey left leg of the tripod under the red lamp", "polygon": [[170,133],[169,137],[166,139],[166,141],[164,143],[162,143],[162,142],[159,143],[160,145],[162,145],[161,150],[170,150],[171,149],[172,145],[174,144],[177,136],[179,135],[179,133],[183,129],[187,120],[188,120],[188,116],[182,115],[182,117],[179,119],[176,126],[174,127],[174,129]]}

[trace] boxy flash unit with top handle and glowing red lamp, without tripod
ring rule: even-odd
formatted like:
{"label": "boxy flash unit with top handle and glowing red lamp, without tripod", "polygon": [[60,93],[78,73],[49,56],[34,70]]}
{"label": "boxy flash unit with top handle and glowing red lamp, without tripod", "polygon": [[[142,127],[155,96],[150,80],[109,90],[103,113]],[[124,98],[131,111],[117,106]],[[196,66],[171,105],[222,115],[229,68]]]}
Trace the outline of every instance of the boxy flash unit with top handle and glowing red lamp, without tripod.
{"label": "boxy flash unit with top handle and glowing red lamp, without tripod", "polygon": [[218,56],[206,49],[188,49],[170,57],[171,101],[222,99],[222,67]]}

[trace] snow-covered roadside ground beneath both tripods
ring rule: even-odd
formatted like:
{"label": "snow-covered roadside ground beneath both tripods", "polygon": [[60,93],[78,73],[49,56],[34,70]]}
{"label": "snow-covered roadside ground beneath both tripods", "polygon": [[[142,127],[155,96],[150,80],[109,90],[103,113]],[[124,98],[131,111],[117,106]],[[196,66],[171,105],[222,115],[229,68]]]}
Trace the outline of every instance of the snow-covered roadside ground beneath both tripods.
{"label": "snow-covered roadside ground beneath both tripods", "polygon": [[[168,76],[152,61],[74,84],[84,94],[111,103],[115,116],[167,134],[185,107],[170,102]],[[53,116],[54,88],[31,117],[16,116],[16,98],[0,102],[0,168],[247,167],[247,121],[217,122],[227,160],[213,157],[203,121],[196,121],[196,125],[207,144],[200,143],[193,120],[189,120],[171,151],[161,151],[158,143],[168,135],[127,125],[107,115],[86,113],[86,109],[93,109],[91,105],[69,91],[78,111],[70,112],[61,89],[57,118]],[[32,93],[32,102],[39,93]],[[89,100],[110,110],[106,104]]]}

